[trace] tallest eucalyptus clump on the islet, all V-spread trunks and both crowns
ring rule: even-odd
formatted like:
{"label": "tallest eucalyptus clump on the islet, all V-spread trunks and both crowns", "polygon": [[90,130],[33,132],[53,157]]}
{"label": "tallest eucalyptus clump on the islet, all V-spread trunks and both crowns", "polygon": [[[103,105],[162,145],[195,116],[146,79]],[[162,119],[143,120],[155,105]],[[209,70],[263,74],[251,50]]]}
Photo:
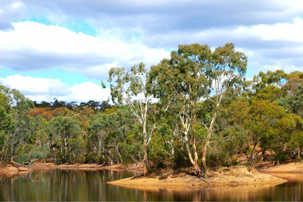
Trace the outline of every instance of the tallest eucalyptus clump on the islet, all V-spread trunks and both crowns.
{"label": "tallest eucalyptus clump on the islet, all V-spread trunks and both crowns", "polygon": [[[241,85],[246,72],[247,57],[236,52],[234,44],[227,43],[214,52],[208,45],[179,45],[178,51],[171,52],[171,59],[163,59],[151,67],[150,80],[155,97],[172,100],[175,114],[179,117],[181,132],[189,160],[196,173],[204,177],[205,159],[210,142],[212,128],[215,124],[217,108],[228,88]],[[207,129],[207,136],[202,145],[202,166],[198,167],[198,153],[195,144],[195,121],[200,105],[215,91],[215,107],[211,123],[202,123]],[[189,148],[188,136],[191,134],[192,151]],[[192,153],[193,152],[193,156]]]}

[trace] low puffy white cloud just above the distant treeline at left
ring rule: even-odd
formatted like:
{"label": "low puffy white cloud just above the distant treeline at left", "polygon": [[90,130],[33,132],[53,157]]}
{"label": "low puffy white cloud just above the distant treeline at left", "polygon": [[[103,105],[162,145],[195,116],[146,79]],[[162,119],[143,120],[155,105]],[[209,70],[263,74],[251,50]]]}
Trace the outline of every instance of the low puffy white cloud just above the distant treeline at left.
{"label": "low puffy white cloud just above the distant treeline at left", "polygon": [[12,75],[0,78],[1,85],[15,88],[31,100],[51,102],[53,98],[67,102],[103,101],[110,96],[110,88],[103,89],[93,82],[68,86],[58,79]]}

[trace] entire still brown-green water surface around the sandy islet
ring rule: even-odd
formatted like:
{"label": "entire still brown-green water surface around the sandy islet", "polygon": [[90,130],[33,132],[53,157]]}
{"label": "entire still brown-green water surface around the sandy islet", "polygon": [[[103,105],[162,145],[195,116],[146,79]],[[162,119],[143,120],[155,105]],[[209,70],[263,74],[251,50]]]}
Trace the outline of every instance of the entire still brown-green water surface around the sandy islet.
{"label": "entire still brown-green water surface around the sandy islet", "polygon": [[[303,175],[282,174],[280,185],[235,187],[121,187],[107,181],[132,171],[54,169],[0,173],[0,201],[302,201]],[[278,175],[278,174],[277,174]]]}

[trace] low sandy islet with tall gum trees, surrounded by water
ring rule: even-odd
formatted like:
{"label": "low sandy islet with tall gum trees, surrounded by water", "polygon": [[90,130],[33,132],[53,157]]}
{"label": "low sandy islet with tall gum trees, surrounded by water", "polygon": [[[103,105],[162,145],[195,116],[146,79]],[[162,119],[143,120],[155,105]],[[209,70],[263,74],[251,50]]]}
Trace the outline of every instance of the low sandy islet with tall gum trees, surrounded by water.
{"label": "low sandy islet with tall gum trees, surrounded by water", "polygon": [[209,171],[207,176],[201,180],[190,169],[174,171],[163,170],[148,176],[129,177],[122,180],[107,182],[115,185],[138,185],[138,186],[235,186],[235,185],[258,185],[258,184],[280,184],[287,180],[274,177],[266,173],[259,173],[255,169],[248,170],[246,167],[221,168]]}

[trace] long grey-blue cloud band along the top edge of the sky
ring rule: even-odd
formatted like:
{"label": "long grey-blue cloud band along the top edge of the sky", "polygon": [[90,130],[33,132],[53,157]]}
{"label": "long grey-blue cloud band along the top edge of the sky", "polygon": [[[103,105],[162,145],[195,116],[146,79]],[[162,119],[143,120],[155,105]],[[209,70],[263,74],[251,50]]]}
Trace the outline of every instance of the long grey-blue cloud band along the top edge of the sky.
{"label": "long grey-blue cloud band along the top edge of the sky", "polygon": [[[41,1],[24,0],[26,5],[55,16],[85,18],[96,25],[134,29],[145,33],[167,33],[181,29],[198,30],[218,26],[289,22],[301,15],[301,0],[188,0],[188,1]],[[62,19],[62,18],[61,18]]]}

